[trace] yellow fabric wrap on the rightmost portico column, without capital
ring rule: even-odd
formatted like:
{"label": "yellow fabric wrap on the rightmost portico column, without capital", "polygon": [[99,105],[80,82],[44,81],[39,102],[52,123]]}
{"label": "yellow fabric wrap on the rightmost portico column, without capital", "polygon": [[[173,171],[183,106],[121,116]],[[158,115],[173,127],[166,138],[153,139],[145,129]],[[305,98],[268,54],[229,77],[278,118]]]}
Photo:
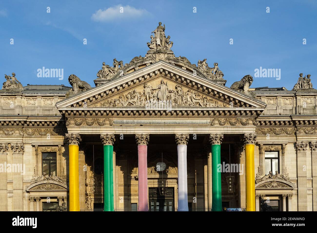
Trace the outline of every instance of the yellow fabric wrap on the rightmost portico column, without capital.
{"label": "yellow fabric wrap on the rightmost portico column, without capital", "polygon": [[246,210],[256,211],[256,190],[254,181],[254,145],[245,145]]}

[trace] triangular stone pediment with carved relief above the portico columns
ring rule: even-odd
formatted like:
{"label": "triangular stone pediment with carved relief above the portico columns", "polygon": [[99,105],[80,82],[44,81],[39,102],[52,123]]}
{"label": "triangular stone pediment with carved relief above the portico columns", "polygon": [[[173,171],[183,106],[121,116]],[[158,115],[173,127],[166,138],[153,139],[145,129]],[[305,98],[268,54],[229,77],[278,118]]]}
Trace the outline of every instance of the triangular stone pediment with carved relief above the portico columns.
{"label": "triangular stone pediment with carved relief above the portico columns", "polygon": [[146,109],[149,103],[160,102],[172,109],[252,108],[262,112],[266,106],[260,100],[205,77],[158,61],[64,99],[56,107],[61,112],[66,109]]}

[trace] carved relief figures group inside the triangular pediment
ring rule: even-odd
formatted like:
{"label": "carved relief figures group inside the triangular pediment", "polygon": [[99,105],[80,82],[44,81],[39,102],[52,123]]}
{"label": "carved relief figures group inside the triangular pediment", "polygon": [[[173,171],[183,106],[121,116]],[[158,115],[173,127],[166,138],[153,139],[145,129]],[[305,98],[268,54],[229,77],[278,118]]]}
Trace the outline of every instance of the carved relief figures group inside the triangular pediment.
{"label": "carved relief figures group inside the triangular pediment", "polygon": [[167,82],[162,79],[156,87],[149,84],[143,85],[143,91],[136,89],[122,94],[119,99],[107,100],[101,103],[101,107],[125,107],[125,106],[150,106],[166,104],[168,106],[197,106],[197,107],[222,107],[217,101],[203,97],[198,92],[187,90],[179,85],[175,89],[169,88]]}

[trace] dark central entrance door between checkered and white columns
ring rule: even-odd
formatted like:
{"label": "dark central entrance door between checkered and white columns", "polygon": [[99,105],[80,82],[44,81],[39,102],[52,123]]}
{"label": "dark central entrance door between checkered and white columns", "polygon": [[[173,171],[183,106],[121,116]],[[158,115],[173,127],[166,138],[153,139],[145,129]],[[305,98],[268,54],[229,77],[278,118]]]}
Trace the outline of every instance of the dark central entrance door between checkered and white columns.
{"label": "dark central entrance door between checkered and white columns", "polygon": [[159,188],[149,188],[149,211],[174,211],[174,188],[166,188],[164,195]]}

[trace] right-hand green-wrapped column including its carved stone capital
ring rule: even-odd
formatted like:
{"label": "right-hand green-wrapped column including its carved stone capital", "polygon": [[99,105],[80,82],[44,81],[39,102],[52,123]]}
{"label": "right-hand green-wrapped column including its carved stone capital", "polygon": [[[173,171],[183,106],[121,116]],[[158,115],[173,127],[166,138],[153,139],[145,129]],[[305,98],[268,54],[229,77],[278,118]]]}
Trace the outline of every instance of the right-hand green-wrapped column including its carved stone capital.
{"label": "right-hand green-wrapped column including its carved stone capital", "polygon": [[212,211],[222,211],[221,200],[221,171],[218,171],[220,160],[220,146],[223,134],[210,134],[211,156],[212,156]]}

